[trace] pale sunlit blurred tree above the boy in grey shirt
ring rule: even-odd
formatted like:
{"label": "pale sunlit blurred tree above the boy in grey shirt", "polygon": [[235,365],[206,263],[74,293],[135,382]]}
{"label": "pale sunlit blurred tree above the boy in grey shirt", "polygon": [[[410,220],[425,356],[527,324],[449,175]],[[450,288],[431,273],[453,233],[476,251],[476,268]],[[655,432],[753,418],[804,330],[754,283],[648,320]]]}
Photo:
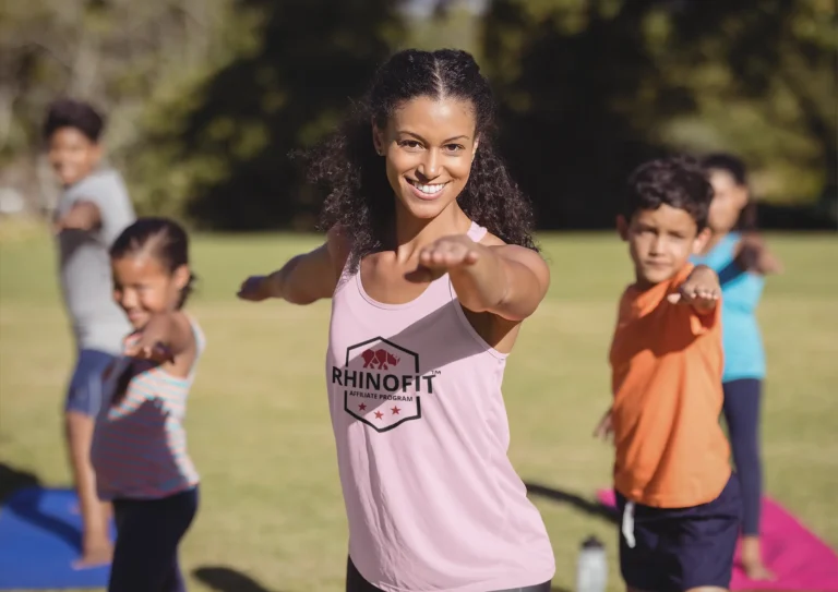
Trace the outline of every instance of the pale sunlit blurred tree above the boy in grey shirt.
{"label": "pale sunlit blurred tree above the boy in grey shirt", "polygon": [[0,2],[0,165],[32,159],[40,123],[59,96],[106,111],[106,140],[123,149],[143,133],[137,118],[159,94],[237,49],[224,39],[230,0],[25,0]]}

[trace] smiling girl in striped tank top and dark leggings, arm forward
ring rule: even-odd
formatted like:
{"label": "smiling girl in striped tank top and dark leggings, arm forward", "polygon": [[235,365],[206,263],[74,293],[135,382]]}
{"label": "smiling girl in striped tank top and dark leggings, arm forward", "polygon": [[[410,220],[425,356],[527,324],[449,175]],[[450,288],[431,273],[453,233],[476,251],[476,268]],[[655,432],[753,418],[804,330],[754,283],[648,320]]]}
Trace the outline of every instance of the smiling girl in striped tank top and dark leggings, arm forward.
{"label": "smiling girl in striped tank top and dark leggings, arm forward", "polygon": [[109,592],[184,590],[178,544],[197,509],[199,478],[182,421],[204,349],[182,311],[188,249],[187,233],[165,218],[140,218],[110,249],[113,299],[134,333],[106,373],[93,443],[99,496],[112,500],[117,522]]}

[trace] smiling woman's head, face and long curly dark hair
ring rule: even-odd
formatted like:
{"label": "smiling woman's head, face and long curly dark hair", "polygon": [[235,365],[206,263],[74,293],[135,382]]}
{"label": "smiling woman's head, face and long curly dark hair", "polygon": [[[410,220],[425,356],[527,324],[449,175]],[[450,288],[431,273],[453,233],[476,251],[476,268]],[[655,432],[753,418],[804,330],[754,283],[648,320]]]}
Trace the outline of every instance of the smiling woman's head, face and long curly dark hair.
{"label": "smiling woman's head, face and long curly dark hair", "polygon": [[507,244],[536,247],[529,202],[494,149],[494,116],[489,82],[466,52],[403,51],[380,70],[342,130],[307,155],[310,180],[328,191],[323,227],[352,237],[352,267],[394,246],[395,208],[410,210],[408,184],[426,185],[412,194],[419,198],[446,189],[424,219],[456,200]]}

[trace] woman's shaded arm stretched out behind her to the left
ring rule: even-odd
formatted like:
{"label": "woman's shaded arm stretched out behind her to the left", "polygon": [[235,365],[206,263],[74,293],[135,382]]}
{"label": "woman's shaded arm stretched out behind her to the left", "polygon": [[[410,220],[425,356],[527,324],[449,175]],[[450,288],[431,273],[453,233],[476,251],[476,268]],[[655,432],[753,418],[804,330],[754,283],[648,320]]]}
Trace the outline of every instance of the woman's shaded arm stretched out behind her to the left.
{"label": "woman's shaded arm stretched out behind her to the left", "polygon": [[291,304],[331,298],[348,252],[339,229],[333,228],[326,242],[315,250],[297,255],[273,274],[247,278],[237,295],[251,302],[278,298]]}

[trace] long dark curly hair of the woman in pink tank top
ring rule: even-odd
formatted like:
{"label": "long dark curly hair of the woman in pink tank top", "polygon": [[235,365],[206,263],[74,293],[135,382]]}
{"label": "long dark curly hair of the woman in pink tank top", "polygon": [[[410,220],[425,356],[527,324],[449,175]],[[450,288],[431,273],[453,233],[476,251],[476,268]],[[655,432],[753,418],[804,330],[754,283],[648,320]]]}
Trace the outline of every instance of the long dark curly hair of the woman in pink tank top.
{"label": "long dark curly hair of the woman in pink tank top", "polygon": [[383,129],[395,110],[418,97],[471,104],[480,145],[459,206],[506,243],[537,251],[531,206],[494,147],[494,99],[477,62],[466,51],[408,49],[379,69],[348,121],[306,155],[309,181],[326,191],[321,228],[339,225],[351,237],[350,269],[364,255],[394,246],[395,197],[373,147],[372,122]]}

